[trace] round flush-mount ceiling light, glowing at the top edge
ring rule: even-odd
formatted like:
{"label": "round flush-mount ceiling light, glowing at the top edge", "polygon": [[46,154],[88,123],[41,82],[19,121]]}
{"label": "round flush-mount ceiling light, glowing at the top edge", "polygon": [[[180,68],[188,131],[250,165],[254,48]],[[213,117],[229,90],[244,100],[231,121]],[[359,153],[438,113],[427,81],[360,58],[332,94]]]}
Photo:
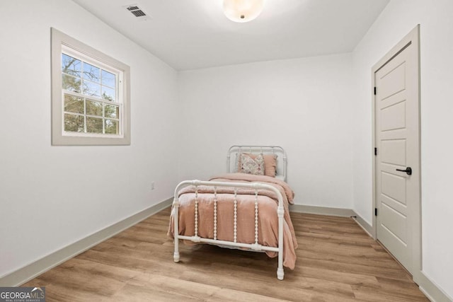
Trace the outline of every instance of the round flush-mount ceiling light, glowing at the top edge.
{"label": "round flush-mount ceiling light, glowing at the top edge", "polygon": [[234,22],[248,22],[263,11],[264,0],[224,0],[226,18]]}

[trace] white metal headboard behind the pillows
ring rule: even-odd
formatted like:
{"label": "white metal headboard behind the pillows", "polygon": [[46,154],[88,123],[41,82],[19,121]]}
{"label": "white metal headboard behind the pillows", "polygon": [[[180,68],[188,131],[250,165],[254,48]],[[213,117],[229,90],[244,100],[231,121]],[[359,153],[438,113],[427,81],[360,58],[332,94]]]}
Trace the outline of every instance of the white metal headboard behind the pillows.
{"label": "white metal headboard behind the pillows", "polygon": [[236,158],[240,153],[252,154],[275,154],[277,155],[277,173],[275,178],[286,181],[287,176],[287,157],[286,151],[280,146],[231,146],[228,149],[226,159],[228,161],[228,173],[237,172]]}

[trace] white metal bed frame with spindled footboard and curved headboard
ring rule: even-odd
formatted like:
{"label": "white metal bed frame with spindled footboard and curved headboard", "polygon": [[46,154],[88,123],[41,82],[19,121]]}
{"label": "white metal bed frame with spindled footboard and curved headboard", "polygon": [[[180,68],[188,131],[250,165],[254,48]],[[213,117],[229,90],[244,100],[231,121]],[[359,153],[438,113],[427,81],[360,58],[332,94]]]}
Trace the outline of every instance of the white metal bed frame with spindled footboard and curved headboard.
{"label": "white metal bed frame with spindled footboard and curved headboard", "polygon": [[[230,156],[231,153],[234,152],[241,152],[241,151],[260,151],[260,153],[265,153],[266,151],[274,151],[280,152],[283,154],[283,171],[282,175],[284,180],[286,180],[286,153],[279,146],[231,146],[228,151],[228,170],[230,170]],[[179,235],[179,226],[178,226],[178,209],[179,209],[179,196],[178,192],[188,185],[195,186],[195,235],[194,236],[183,236]],[[214,216],[214,238],[202,238],[198,236],[198,187],[200,185],[203,186],[210,186],[214,187],[214,210],[212,215]],[[226,240],[218,240],[217,239],[217,187],[234,187],[234,229],[233,229],[233,241],[226,241]],[[238,188],[248,188],[255,190],[255,243],[239,243],[237,242],[237,199],[236,199],[236,192]],[[277,206],[277,216],[278,216],[278,246],[271,247],[266,245],[260,245],[258,243],[258,190],[270,190],[274,192],[278,199],[278,206]],[[260,182],[250,182],[250,183],[241,183],[241,182],[214,182],[214,181],[201,181],[201,180],[185,180],[180,182],[175,189],[175,194],[173,198],[173,223],[174,223],[174,244],[175,244],[175,251],[173,253],[173,260],[175,262],[179,262],[180,255],[179,255],[179,239],[182,240],[191,240],[194,243],[209,243],[212,245],[219,245],[223,247],[230,247],[230,248],[241,248],[246,250],[251,250],[255,252],[265,252],[265,251],[273,251],[278,253],[278,267],[277,267],[277,279],[283,280],[285,275],[283,270],[283,216],[285,214],[285,207],[283,206],[283,197],[279,190],[275,187],[267,184],[263,184]]]}

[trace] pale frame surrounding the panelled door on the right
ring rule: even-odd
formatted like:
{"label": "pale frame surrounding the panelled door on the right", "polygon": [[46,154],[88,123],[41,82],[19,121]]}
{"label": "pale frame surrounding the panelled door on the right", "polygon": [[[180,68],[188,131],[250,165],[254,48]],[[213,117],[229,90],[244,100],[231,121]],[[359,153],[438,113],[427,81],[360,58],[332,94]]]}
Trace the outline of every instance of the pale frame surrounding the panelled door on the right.
{"label": "pale frame surrounding the panelled door on the right", "polygon": [[[380,59],[374,66],[372,66],[372,236],[377,239],[377,217],[374,215],[374,209],[377,208],[377,197],[376,197],[376,156],[374,156],[374,148],[376,147],[376,127],[375,127],[375,105],[376,105],[376,95],[374,95],[375,86],[375,73],[382,68],[386,63],[391,61],[396,55],[403,51],[409,44],[415,46],[415,50],[418,52],[418,59],[415,62],[415,70],[418,71],[418,83],[415,89],[415,100],[418,103],[418,165],[421,169],[421,135],[420,135],[420,24],[415,26],[406,37],[398,42],[389,52],[387,52],[382,59]],[[379,150],[378,150],[379,152]],[[422,281],[422,216],[421,216],[421,170],[418,173],[420,176],[418,178],[419,192],[418,200],[415,200],[415,205],[413,211],[411,211],[411,216],[413,217],[412,223],[412,267],[413,267],[413,281],[420,284]]]}

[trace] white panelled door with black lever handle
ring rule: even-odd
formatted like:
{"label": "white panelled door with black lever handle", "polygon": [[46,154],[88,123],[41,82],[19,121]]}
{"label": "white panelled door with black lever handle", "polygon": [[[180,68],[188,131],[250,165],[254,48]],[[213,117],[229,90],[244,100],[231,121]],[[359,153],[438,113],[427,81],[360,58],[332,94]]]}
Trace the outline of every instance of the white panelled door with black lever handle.
{"label": "white panelled door with black lever handle", "polygon": [[374,72],[376,225],[377,239],[412,273],[414,232],[420,236],[418,44],[400,47]]}

